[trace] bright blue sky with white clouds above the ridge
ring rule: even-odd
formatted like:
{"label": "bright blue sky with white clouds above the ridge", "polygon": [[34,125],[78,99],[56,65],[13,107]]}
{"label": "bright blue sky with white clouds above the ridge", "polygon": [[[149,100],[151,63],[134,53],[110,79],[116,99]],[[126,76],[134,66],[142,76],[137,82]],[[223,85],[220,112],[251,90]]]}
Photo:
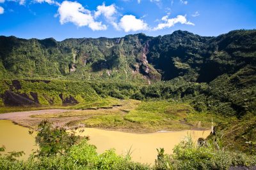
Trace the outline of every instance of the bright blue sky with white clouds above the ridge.
{"label": "bright blue sky with white clouds above the ridge", "polygon": [[0,35],[19,38],[218,36],[256,29],[256,0],[0,0]]}

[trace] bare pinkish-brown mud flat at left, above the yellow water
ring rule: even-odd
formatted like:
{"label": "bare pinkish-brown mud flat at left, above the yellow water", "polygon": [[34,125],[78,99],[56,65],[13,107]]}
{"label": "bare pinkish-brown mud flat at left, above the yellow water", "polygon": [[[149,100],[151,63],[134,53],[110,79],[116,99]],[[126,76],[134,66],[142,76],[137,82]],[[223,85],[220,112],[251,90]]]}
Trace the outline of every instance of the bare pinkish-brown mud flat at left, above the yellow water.
{"label": "bare pinkish-brown mud flat at left, above the yellow water", "polygon": [[[36,110],[36,111],[20,111],[12,113],[2,113],[0,114],[0,119],[12,120],[16,124],[22,125],[24,127],[35,128],[44,118],[32,118],[31,115],[44,115],[44,114],[59,114],[67,111],[74,110]],[[50,118],[51,122],[58,125],[65,125],[70,121],[74,121],[79,118],[68,117],[68,118]]]}

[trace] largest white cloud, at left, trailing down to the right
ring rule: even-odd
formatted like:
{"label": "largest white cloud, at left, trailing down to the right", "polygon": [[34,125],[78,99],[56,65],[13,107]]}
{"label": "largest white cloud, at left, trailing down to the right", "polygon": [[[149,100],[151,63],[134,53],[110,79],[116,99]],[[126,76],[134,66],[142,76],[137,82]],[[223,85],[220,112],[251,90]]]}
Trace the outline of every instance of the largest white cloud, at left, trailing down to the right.
{"label": "largest white cloud, at left, trailing down to the right", "polygon": [[107,26],[102,22],[96,22],[90,10],[77,2],[63,1],[58,8],[58,15],[60,15],[60,23],[65,24],[72,22],[78,27],[88,26],[93,31],[106,30]]}

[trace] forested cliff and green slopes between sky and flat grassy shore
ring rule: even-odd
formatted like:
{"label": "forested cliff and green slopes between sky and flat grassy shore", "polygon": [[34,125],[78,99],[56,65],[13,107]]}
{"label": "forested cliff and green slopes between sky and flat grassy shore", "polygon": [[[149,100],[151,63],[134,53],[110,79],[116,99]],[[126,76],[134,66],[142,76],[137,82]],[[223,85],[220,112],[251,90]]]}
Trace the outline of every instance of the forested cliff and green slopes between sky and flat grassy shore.
{"label": "forested cliff and green slopes between sky and flat grassy shore", "polygon": [[[84,109],[116,106],[119,99],[164,100],[236,117],[244,127],[256,115],[256,30],[64,41],[0,36],[0,83],[2,113],[10,106]],[[218,127],[230,129],[241,150],[255,141],[253,121],[246,132],[232,122]]]}

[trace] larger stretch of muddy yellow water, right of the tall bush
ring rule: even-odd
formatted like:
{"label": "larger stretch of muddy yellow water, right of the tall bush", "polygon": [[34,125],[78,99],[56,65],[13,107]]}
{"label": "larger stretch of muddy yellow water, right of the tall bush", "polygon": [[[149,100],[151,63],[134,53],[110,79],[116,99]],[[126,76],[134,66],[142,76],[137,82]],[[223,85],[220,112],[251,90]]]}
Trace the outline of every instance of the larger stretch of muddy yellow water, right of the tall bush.
{"label": "larger stretch of muddy yellow water, right of the tall bush", "polygon": [[182,139],[185,139],[186,136],[191,135],[196,141],[198,138],[206,138],[210,132],[178,131],[135,134],[86,128],[81,136],[90,136],[89,143],[97,146],[98,153],[115,148],[116,153],[125,155],[131,148],[132,160],[153,164],[157,157],[156,148],[164,148],[166,153],[172,153],[173,147]]}

